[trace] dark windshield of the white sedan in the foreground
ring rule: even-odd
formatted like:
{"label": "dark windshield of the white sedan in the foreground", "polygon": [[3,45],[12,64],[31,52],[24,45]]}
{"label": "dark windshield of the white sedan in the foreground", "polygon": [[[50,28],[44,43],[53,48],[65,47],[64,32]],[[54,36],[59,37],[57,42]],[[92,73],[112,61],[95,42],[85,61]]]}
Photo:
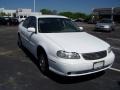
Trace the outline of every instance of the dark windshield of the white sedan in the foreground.
{"label": "dark windshield of the white sedan in the foreground", "polygon": [[39,18],[38,30],[41,33],[80,32],[75,23],[66,18]]}

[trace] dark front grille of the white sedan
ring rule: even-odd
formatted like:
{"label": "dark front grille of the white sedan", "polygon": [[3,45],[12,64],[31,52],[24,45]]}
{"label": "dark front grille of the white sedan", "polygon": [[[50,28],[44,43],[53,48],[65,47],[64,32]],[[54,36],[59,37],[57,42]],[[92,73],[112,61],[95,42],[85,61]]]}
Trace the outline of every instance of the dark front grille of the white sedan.
{"label": "dark front grille of the white sedan", "polygon": [[106,57],[107,56],[107,51],[85,53],[85,54],[82,54],[82,56],[86,60],[96,60],[96,59],[101,59],[101,58]]}

